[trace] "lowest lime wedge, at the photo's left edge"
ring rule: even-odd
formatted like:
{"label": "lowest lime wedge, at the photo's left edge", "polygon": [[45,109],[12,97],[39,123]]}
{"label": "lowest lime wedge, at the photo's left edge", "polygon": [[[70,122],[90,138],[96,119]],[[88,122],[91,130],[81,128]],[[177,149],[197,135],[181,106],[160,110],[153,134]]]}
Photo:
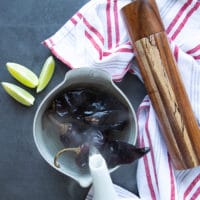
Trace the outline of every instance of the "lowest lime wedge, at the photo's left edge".
{"label": "lowest lime wedge, at the photo's left edge", "polygon": [[5,91],[13,97],[16,101],[20,102],[21,104],[25,106],[32,106],[35,98],[26,90],[20,88],[19,86],[8,83],[8,82],[2,82],[1,83]]}

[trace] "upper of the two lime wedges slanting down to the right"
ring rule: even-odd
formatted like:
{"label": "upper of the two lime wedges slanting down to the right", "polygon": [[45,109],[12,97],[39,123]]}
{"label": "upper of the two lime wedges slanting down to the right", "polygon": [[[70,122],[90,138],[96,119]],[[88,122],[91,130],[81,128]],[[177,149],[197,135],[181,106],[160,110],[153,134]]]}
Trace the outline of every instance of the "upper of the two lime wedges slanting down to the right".
{"label": "upper of the two lime wedges slanting down to the right", "polygon": [[11,62],[6,63],[6,67],[10,74],[25,86],[35,88],[38,85],[38,77],[27,67]]}

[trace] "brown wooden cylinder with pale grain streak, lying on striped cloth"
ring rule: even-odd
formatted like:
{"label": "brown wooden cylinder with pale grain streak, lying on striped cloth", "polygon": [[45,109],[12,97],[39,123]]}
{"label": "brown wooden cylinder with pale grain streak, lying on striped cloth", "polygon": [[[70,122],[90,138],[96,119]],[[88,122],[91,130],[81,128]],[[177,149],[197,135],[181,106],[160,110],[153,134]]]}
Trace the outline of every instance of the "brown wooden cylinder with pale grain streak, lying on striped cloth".
{"label": "brown wooden cylinder with pale grain streak, lying on striped cloth", "polygon": [[200,130],[155,0],[122,9],[138,67],[176,169],[200,165]]}

